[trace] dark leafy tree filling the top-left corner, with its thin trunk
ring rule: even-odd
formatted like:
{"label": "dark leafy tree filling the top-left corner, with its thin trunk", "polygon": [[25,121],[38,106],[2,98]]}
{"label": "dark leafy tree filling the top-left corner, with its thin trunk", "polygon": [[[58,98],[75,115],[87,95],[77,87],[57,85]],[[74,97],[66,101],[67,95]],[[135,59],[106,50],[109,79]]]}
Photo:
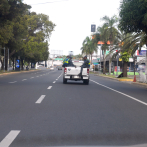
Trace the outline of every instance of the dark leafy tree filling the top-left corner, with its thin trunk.
{"label": "dark leafy tree filling the top-left corner, with its thin trunk", "polygon": [[[2,0],[0,1],[0,45],[2,48],[6,48],[6,66],[7,69],[7,53],[8,47],[10,47],[10,42],[15,46],[15,42],[20,43],[20,36],[22,30],[22,26],[25,24],[25,20],[23,20],[24,14],[28,12],[31,7],[27,4],[24,4],[21,0]],[[24,24],[23,24],[24,23]],[[20,35],[16,32],[19,30]],[[15,37],[17,34],[17,37]],[[10,52],[12,51],[9,48]]]}

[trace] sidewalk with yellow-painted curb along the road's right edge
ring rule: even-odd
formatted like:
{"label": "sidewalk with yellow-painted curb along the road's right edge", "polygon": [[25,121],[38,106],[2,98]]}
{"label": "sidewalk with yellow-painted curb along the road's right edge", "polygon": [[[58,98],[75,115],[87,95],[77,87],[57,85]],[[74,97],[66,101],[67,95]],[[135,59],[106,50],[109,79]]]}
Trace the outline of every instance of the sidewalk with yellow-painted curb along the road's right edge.
{"label": "sidewalk with yellow-painted curb along the road's right edge", "polygon": [[129,84],[133,84],[133,85],[137,85],[137,86],[141,86],[141,87],[145,87],[147,88],[147,84],[146,83],[140,83],[139,82],[139,76],[136,77],[137,82],[133,82],[134,76],[128,76],[128,78],[117,78],[116,76],[109,76],[109,75],[103,75],[103,74],[97,74],[97,73],[93,73],[95,74],[95,76],[100,76],[100,77],[105,77],[111,80],[116,80],[116,81],[120,81],[120,82],[125,82],[125,83],[129,83]]}

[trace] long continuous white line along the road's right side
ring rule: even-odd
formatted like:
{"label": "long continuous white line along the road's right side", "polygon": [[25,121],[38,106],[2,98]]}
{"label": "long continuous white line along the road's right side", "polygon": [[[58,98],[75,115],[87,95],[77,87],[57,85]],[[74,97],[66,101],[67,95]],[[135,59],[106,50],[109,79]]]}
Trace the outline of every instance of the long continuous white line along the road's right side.
{"label": "long continuous white line along the road's right side", "polygon": [[144,104],[144,105],[147,106],[147,103],[145,103],[145,102],[143,102],[143,101],[141,101],[141,100],[139,100],[139,99],[136,99],[136,98],[134,98],[134,97],[132,97],[132,96],[130,96],[130,95],[127,95],[127,94],[125,94],[125,93],[122,93],[122,92],[120,92],[120,91],[117,91],[117,90],[115,90],[115,89],[112,89],[112,88],[110,88],[110,87],[107,87],[107,86],[105,86],[105,85],[102,85],[102,84],[100,84],[100,83],[97,83],[96,81],[93,81],[93,80],[90,80],[90,81],[92,81],[92,82],[94,82],[94,83],[96,83],[96,84],[98,84],[98,85],[100,85],[100,86],[103,86],[103,87],[105,87],[105,88],[107,88],[107,89],[110,89],[110,90],[112,90],[112,91],[115,91],[115,92],[117,92],[117,93],[119,93],[119,94],[121,94],[121,95],[124,95],[124,96],[126,96],[126,97],[128,97],[128,98],[130,98],[130,99],[132,99],[132,100],[134,100],[134,101],[137,101],[137,102],[139,102],[139,103]]}

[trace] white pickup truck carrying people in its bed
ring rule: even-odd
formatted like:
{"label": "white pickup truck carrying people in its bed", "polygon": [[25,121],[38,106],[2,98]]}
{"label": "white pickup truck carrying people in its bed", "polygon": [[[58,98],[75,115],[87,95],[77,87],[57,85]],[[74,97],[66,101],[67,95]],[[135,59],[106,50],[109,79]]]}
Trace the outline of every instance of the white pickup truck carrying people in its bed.
{"label": "white pickup truck carrying people in its bed", "polygon": [[65,67],[63,71],[63,84],[67,83],[67,80],[75,80],[79,81],[82,80],[84,84],[89,84],[89,68],[83,68],[83,72],[81,76],[78,76],[78,74],[81,71],[81,65],[83,64],[83,61],[73,61],[73,64],[76,67]]}

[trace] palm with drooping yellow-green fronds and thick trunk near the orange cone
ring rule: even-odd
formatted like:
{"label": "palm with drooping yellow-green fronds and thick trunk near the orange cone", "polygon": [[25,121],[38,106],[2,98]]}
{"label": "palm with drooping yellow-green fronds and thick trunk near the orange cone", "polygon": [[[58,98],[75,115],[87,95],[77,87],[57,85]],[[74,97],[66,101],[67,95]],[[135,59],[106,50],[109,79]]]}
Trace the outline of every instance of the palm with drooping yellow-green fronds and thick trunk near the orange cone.
{"label": "palm with drooping yellow-green fronds and thick trunk near the orange cone", "polygon": [[[142,35],[141,35],[142,34]],[[112,52],[114,50],[118,50],[117,53],[113,54],[113,57],[120,52],[121,58],[123,59],[123,76],[127,77],[127,66],[129,57],[133,56],[135,51],[145,44],[145,34],[135,34],[135,33],[124,33],[120,32],[119,36],[117,38],[117,43],[115,43],[114,48],[112,49]]]}

